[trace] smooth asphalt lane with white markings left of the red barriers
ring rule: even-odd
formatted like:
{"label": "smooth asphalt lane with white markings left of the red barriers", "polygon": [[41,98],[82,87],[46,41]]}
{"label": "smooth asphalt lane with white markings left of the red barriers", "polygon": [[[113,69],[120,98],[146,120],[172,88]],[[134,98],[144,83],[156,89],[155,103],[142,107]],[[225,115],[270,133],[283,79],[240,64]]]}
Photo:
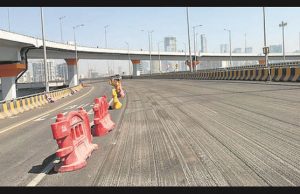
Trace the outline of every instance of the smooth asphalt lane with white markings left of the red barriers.
{"label": "smooth asphalt lane with white markings left of the red barriers", "polygon": [[[38,184],[45,176],[44,169],[55,159],[55,152],[58,149],[51,131],[51,124],[55,122],[56,115],[58,113],[66,115],[83,107],[88,112],[90,122],[93,122],[94,98],[102,95],[107,95],[108,100],[111,98],[111,86],[107,81],[85,87],[78,93],[55,103],[1,119],[0,185]],[[120,111],[111,112],[116,119],[121,115]],[[96,138],[94,140],[101,147],[101,142],[97,142]]]}

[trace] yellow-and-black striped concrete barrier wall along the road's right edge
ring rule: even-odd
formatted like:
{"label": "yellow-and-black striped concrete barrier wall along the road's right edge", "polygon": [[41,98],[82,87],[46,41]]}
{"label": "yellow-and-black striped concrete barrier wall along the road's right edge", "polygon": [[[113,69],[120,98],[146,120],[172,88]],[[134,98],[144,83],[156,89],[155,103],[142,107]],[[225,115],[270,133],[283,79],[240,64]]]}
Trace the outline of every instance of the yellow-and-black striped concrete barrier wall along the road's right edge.
{"label": "yellow-and-black striped concrete barrier wall along the road's right edge", "polygon": [[[272,81],[299,82],[300,67],[272,67],[270,69]],[[245,80],[267,81],[269,70],[267,68],[234,69],[234,70],[202,70],[197,72],[172,72],[162,74],[124,76],[123,79],[197,79],[197,80]]]}

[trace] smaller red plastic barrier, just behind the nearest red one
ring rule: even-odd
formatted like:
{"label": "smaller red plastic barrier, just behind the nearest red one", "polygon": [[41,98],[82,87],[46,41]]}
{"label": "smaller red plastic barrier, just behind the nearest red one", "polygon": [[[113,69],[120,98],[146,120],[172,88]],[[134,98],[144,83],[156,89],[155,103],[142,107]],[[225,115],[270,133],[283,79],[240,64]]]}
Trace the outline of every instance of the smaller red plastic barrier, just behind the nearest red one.
{"label": "smaller red plastic barrier, just behind the nearest red one", "polygon": [[106,96],[95,98],[94,111],[94,129],[92,131],[94,136],[103,136],[115,127],[115,123],[111,119],[108,112],[109,104],[107,103]]}

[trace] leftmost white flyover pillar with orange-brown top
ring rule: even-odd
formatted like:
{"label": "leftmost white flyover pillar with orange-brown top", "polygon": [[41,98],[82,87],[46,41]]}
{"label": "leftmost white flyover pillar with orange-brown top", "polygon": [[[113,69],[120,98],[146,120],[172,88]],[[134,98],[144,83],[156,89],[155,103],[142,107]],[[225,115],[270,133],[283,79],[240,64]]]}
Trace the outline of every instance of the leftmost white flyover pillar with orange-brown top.
{"label": "leftmost white flyover pillar with orange-brown top", "polygon": [[0,77],[3,100],[17,97],[16,77],[26,69],[25,64],[0,64]]}

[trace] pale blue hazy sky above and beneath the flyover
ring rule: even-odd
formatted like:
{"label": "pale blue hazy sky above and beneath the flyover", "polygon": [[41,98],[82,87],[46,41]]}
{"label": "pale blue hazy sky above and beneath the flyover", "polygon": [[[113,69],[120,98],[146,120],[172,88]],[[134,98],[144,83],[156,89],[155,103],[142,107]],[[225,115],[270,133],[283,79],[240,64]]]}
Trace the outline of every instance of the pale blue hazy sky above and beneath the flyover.
{"label": "pale blue hazy sky above and beneath the flyover", "polygon": [[[9,22],[8,22],[9,10]],[[282,44],[281,21],[287,22],[285,27],[285,51],[299,50],[300,39],[300,7],[266,7],[267,45]],[[45,7],[44,26],[47,40],[61,41],[59,17],[63,20],[63,40],[74,41],[73,26],[84,24],[76,30],[77,44],[88,47],[105,47],[105,30],[107,27],[107,47],[131,50],[148,50],[148,33],[153,30],[153,50],[164,37],[174,36],[178,50],[188,49],[187,18],[185,7]],[[1,7],[0,29],[42,37],[39,7]],[[219,52],[220,44],[229,44],[228,32],[231,30],[232,49],[253,47],[253,52],[262,53],[264,43],[263,8],[262,7],[190,7],[190,34],[192,26],[197,27],[199,34],[205,34],[208,52]],[[144,30],[144,31],[141,31]],[[191,39],[193,49],[193,39]],[[163,44],[160,44],[163,50]],[[122,66],[128,71],[127,61],[95,61],[79,60],[79,73],[86,74],[88,65],[100,73],[107,71],[110,63],[117,71]]]}

